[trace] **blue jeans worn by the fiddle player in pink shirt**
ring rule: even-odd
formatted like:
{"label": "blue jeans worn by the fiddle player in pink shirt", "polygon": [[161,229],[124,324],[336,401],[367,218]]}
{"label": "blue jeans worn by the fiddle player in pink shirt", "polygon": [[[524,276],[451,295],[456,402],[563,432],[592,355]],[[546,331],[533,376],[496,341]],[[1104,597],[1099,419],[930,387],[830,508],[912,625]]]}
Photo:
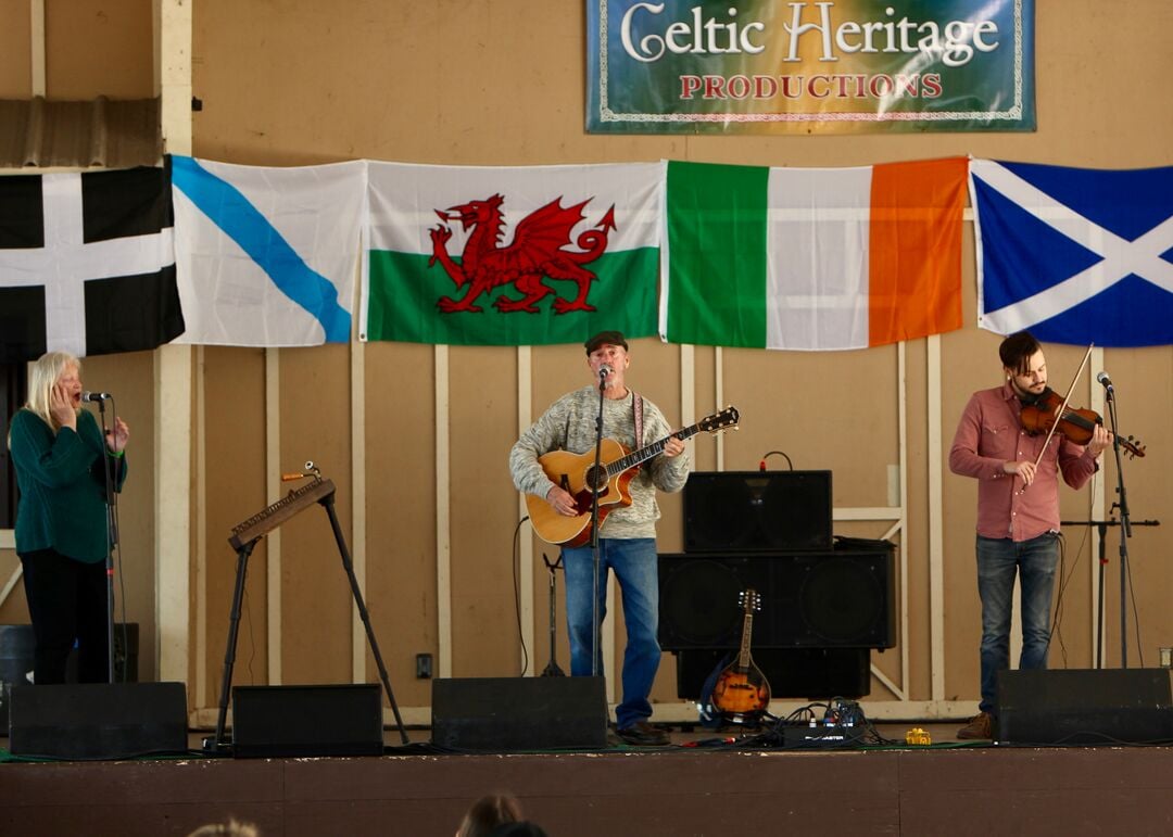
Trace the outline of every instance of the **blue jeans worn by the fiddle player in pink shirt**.
{"label": "blue jeans worn by the fiddle player in pink shirt", "polygon": [[1031,540],[977,536],[977,592],[982,597],[982,702],[997,715],[998,672],[1010,667],[1010,614],[1015,573],[1022,588],[1023,652],[1018,668],[1046,668],[1051,642],[1051,593],[1059,559],[1059,536]]}

